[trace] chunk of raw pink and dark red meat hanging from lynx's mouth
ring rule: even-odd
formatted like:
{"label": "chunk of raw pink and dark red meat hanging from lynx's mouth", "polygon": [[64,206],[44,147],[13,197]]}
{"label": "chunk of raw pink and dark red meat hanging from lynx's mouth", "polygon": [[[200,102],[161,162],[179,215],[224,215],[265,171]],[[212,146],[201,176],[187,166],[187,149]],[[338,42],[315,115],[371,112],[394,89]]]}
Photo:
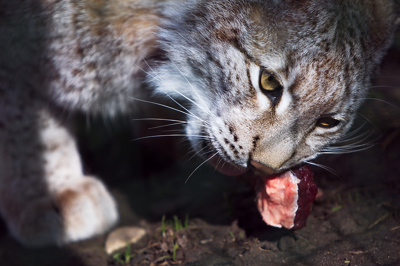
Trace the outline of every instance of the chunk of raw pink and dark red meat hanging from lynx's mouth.
{"label": "chunk of raw pink and dark red meat hanging from lynx's mouth", "polygon": [[288,229],[305,226],[318,192],[312,177],[308,166],[266,177],[256,200],[264,222]]}

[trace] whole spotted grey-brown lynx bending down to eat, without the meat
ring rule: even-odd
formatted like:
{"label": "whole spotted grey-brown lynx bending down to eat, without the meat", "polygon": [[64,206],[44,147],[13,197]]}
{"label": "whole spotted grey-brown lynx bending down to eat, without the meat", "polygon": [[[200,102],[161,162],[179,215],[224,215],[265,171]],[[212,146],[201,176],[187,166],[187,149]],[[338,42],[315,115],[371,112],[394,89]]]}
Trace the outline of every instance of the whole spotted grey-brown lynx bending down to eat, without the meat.
{"label": "whole spotted grey-brown lynx bending down to eat, without the meat", "polygon": [[[3,0],[0,213],[22,244],[118,221],[63,116],[186,101],[194,151],[222,173],[281,173],[350,129],[398,24],[394,0]],[[200,141],[199,142],[199,138]],[[249,170],[250,169],[250,170]]]}

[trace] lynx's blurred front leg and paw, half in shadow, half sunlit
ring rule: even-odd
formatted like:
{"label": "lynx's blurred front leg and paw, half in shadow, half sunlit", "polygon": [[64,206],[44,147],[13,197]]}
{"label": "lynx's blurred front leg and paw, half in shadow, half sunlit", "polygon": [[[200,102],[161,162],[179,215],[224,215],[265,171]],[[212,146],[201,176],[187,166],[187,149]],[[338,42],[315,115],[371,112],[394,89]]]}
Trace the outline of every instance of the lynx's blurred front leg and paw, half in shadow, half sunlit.
{"label": "lynx's blurred front leg and paw, half in shadow, half sunlit", "polygon": [[83,175],[68,130],[47,110],[32,110],[0,121],[0,211],[10,232],[28,246],[105,232],[118,220],[114,199]]}

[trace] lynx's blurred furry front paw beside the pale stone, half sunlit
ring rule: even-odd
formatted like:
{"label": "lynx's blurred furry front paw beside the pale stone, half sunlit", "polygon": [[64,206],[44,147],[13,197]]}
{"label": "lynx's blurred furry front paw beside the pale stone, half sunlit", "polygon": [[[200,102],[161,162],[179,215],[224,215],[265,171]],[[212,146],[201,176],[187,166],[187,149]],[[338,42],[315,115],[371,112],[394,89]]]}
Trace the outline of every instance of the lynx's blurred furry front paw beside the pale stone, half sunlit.
{"label": "lynx's blurred furry front paw beside the pale stone, half sunlit", "polygon": [[84,177],[22,210],[14,236],[26,246],[63,245],[109,230],[118,220],[114,199],[94,177]]}

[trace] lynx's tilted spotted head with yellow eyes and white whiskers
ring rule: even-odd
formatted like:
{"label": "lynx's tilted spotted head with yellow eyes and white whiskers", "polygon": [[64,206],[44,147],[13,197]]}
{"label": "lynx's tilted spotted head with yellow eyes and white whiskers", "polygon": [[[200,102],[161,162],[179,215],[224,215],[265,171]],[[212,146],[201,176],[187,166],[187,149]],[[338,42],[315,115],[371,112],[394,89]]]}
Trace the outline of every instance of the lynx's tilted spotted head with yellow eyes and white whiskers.
{"label": "lynx's tilted spotted head with yellow eyes and white whiskers", "polygon": [[187,100],[186,132],[202,136],[192,145],[217,169],[282,171],[348,131],[391,42],[391,10],[378,0],[189,2],[165,13],[166,60],[153,75],[158,91]]}

